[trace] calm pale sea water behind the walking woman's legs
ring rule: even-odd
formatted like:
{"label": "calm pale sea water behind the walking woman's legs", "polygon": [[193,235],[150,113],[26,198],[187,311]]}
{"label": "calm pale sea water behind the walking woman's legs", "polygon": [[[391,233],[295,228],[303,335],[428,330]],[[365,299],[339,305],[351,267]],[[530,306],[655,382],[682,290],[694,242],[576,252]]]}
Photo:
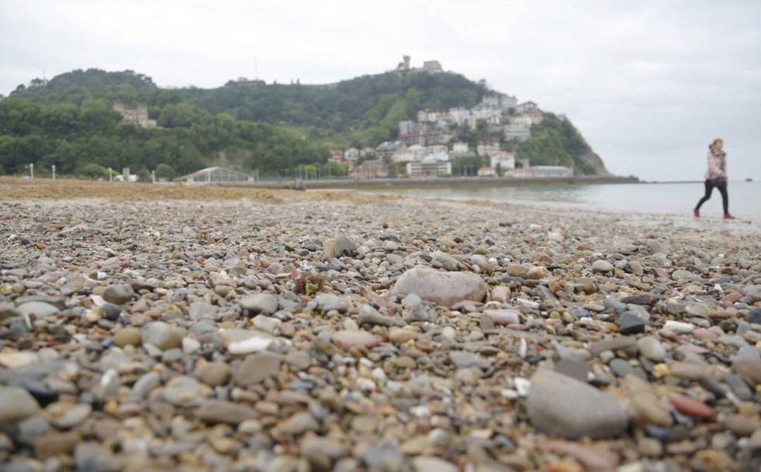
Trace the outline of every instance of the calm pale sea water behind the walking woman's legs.
{"label": "calm pale sea water behind the walking woman's legs", "polygon": [[[729,211],[738,218],[761,218],[761,182],[730,182]],[[691,214],[703,195],[703,183],[619,183],[388,189],[384,193],[446,199],[486,199],[513,203],[563,203],[588,209]],[[714,190],[702,215],[721,216],[721,195]]]}

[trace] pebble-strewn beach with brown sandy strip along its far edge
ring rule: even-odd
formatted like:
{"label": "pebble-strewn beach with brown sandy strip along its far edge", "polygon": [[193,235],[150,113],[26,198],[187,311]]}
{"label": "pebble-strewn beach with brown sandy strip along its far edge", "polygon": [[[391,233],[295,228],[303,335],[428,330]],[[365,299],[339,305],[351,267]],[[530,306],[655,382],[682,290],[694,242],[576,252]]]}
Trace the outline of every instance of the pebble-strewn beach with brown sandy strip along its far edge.
{"label": "pebble-strewn beach with brown sandy strip along its far edge", "polygon": [[2,470],[761,467],[761,228],[0,180]]}

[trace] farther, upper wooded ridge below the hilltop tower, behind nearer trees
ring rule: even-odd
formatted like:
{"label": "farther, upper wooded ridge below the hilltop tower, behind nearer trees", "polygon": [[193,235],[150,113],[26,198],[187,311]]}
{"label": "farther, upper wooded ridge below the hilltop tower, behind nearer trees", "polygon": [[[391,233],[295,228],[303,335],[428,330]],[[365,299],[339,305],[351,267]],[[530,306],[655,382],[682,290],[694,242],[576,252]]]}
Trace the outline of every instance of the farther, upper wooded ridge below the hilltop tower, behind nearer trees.
{"label": "farther, upper wooded ridge below the hilltop tower, behind nearer trees", "polygon": [[451,73],[387,72],[333,85],[229,81],[219,88],[162,89],[132,71],[88,69],[58,75],[47,84],[35,79],[11,97],[40,104],[80,105],[88,98],[146,103],[159,124],[164,107],[185,103],[238,120],[292,126],[310,139],[348,147],[393,139],[399,121],[414,118],[417,110],[472,107],[487,92],[482,82]]}

